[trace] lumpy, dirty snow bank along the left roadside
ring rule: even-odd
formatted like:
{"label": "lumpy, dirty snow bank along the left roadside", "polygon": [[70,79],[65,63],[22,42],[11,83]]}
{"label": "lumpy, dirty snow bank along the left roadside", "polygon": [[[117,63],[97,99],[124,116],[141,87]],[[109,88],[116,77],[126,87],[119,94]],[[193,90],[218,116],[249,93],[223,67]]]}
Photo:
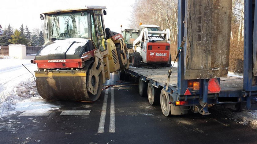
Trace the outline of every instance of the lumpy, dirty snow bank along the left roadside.
{"label": "lumpy, dirty snow bank along the left roadside", "polygon": [[20,82],[18,85],[11,86],[0,92],[0,118],[13,114],[16,106],[15,103],[24,98],[33,96],[35,92],[32,90],[35,85],[34,78],[29,78],[27,81]]}

